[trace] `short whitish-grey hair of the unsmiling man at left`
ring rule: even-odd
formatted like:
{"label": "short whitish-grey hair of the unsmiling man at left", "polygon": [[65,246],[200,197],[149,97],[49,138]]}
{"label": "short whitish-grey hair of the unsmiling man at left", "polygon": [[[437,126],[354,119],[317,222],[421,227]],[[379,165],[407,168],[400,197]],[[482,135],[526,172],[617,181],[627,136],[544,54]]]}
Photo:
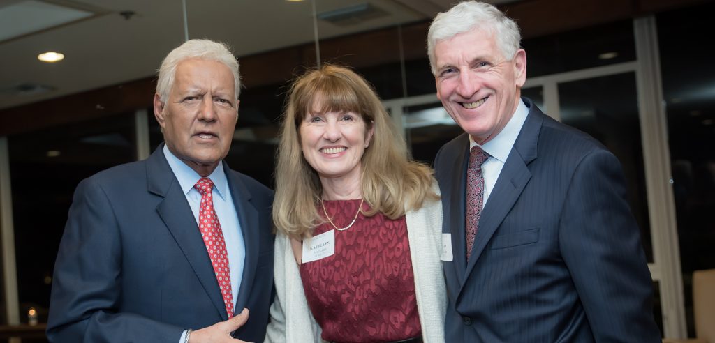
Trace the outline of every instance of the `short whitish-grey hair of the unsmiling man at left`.
{"label": "short whitish-grey hair of the unsmiling man at left", "polygon": [[185,41],[178,48],[169,52],[159,67],[159,80],[157,81],[157,93],[162,101],[167,101],[169,91],[174,86],[174,78],[177,74],[177,65],[184,59],[207,59],[225,64],[233,73],[235,86],[235,96],[241,92],[241,76],[238,72],[238,61],[233,56],[226,44],[208,39],[191,39]]}

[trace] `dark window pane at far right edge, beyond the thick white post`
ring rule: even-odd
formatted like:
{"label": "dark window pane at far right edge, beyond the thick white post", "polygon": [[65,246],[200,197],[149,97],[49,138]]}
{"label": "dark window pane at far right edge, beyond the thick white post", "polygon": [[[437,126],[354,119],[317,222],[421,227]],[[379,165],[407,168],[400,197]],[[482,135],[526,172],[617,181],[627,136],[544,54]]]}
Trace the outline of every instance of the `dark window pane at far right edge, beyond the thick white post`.
{"label": "dark window pane at far right edge, beyond the thick white post", "polygon": [[715,69],[700,34],[713,13],[710,2],[656,18],[689,337],[692,273],[715,268]]}

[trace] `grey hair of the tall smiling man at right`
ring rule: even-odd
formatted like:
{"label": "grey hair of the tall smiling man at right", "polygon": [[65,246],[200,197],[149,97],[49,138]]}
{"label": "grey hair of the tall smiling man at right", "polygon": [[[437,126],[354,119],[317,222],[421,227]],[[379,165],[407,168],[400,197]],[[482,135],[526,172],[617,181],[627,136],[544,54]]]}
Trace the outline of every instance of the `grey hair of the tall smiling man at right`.
{"label": "grey hair of the tall smiling man at right", "polygon": [[493,34],[503,57],[509,60],[514,58],[521,44],[519,26],[490,4],[464,1],[449,11],[437,14],[430,24],[430,31],[427,34],[427,54],[430,56],[432,74],[437,73],[435,45],[439,41],[475,29]]}

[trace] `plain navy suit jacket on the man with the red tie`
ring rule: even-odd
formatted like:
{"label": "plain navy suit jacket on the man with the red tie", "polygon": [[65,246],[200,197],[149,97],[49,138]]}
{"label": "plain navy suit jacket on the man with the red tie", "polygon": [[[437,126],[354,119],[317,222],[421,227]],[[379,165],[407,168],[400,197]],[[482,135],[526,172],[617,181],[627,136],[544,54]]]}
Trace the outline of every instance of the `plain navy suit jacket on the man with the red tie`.
{"label": "plain navy suit jacket on the man with the red tie", "polygon": [[[163,146],[163,145],[162,145]],[[162,146],[77,186],[54,269],[50,342],[178,343],[227,319],[196,219]],[[245,240],[235,337],[262,342],[272,301],[270,189],[224,164]]]}

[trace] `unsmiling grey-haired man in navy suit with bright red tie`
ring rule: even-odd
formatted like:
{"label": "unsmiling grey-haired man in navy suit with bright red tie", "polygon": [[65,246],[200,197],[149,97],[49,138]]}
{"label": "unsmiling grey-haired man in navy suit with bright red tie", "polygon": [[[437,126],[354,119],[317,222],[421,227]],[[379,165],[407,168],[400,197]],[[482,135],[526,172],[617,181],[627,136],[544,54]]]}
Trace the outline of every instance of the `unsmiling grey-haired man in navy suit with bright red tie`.
{"label": "unsmiling grey-haired man in navy suit with bright red tie", "polygon": [[54,269],[50,342],[263,340],[273,194],[222,161],[239,90],[238,62],[223,44],[192,40],[167,55],[154,95],[164,144],[85,179],[74,194]]}

